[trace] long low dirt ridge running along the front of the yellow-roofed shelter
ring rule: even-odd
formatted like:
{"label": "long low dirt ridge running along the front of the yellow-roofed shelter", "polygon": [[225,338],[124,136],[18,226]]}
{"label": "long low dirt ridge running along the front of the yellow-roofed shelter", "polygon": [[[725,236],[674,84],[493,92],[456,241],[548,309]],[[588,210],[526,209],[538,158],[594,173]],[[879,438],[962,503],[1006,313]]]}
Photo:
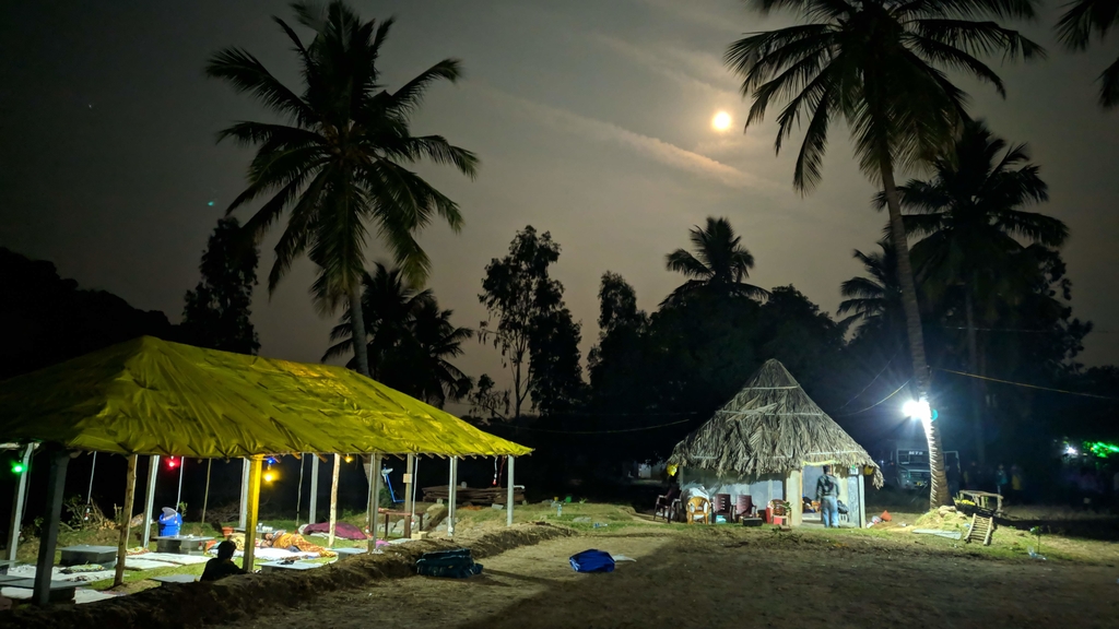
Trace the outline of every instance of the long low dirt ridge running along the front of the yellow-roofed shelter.
{"label": "long low dirt ridge running along the front of the yellow-roofed shelter", "polygon": [[57,627],[198,627],[227,622],[309,598],[367,585],[378,579],[415,574],[415,561],[423,553],[468,547],[477,558],[492,556],[517,546],[574,535],[567,528],[525,524],[473,538],[426,539],[391,546],[380,555],[363,555],[318,570],[297,574],[246,574],[216,583],[164,585],[130,597],[81,605],[20,609],[0,612],[0,626]]}

